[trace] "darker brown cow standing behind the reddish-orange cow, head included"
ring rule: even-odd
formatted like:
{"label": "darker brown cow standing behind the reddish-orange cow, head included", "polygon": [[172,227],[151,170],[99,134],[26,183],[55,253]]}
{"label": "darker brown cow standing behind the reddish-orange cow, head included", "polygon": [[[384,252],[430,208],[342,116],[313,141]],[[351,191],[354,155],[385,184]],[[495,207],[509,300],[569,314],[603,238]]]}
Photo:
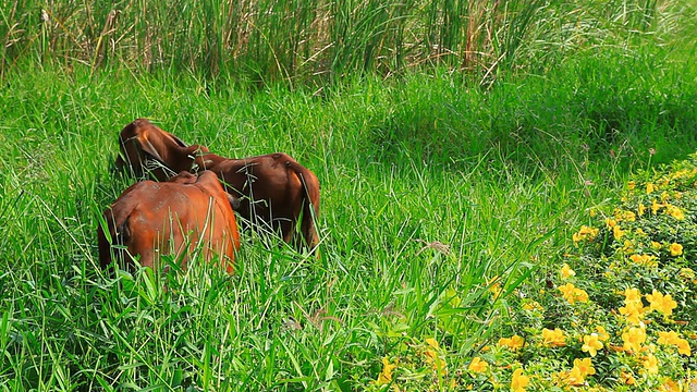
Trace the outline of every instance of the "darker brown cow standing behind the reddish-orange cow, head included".
{"label": "darker brown cow standing behind the reddish-orange cow, head included", "polygon": [[[314,248],[319,242],[315,221],[319,215],[319,182],[317,176],[286,154],[272,154],[244,159],[227,159],[208,152],[204,146],[187,146],[176,136],[162,131],[146,119],[137,119],[121,131],[123,159],[136,174],[148,171],[158,180],[169,172],[196,169],[212,170],[231,194],[239,196],[235,208],[242,218],[260,220],[283,240],[292,241],[302,215],[301,232],[305,243]],[[125,159],[125,161],[124,161]],[[311,205],[311,208],[310,208]]]}

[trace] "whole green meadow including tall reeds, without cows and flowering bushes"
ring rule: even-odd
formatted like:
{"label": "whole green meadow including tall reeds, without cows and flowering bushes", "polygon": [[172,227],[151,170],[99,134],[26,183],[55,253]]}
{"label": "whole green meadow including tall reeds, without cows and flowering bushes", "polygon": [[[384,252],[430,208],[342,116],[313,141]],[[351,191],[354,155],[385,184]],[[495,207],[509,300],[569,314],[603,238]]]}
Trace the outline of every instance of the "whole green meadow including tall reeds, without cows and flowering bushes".
{"label": "whole green meadow including tall reeds, without cows and flowering bushes", "polygon": [[[81,4],[0,1],[3,391],[509,390],[467,375],[525,331],[521,293],[697,149],[688,2]],[[101,271],[139,117],[313,170],[322,257],[244,232],[233,277]]]}

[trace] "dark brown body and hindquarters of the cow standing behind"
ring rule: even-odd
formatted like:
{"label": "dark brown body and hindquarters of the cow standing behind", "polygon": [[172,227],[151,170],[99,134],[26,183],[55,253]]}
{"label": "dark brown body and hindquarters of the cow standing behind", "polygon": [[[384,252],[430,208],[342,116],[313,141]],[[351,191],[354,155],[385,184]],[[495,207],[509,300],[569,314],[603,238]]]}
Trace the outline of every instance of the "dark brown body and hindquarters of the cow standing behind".
{"label": "dark brown body and hindquarters of the cow standing behind", "polygon": [[255,218],[280,231],[291,243],[297,221],[305,244],[315,248],[319,235],[315,219],[319,216],[319,181],[315,173],[288,154],[277,152],[243,159],[200,154],[195,164],[211,170],[225,191],[240,201],[235,208],[247,220]]}

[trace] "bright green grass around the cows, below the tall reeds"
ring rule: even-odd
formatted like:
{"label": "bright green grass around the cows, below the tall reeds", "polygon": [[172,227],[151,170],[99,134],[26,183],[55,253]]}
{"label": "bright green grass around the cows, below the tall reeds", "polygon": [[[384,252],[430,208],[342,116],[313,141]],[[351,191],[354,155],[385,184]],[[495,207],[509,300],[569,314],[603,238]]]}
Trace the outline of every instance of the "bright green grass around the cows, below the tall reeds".
{"label": "bright green grass around the cows, below the tall reeds", "polygon": [[[697,147],[694,78],[640,56],[487,90],[441,74],[323,96],[89,73],[28,69],[1,94],[4,390],[360,389],[383,355],[429,336],[454,371],[505,318],[489,279],[510,292],[559,262],[579,212],[629,169]],[[315,171],[322,258],[247,233],[232,278],[196,262],[106,277],[97,217],[130,184],[110,169],[140,115],[222,155],[283,150]]]}

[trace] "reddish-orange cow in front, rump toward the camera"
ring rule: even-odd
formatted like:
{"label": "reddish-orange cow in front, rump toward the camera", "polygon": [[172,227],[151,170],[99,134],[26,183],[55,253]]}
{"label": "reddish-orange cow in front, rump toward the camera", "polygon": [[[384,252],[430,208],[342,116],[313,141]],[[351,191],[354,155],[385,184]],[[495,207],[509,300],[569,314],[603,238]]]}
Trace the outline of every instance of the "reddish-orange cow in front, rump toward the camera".
{"label": "reddish-orange cow in front, rump toward the camera", "polygon": [[132,269],[127,250],[133,257],[140,255],[142,266],[157,267],[159,254],[175,256],[185,268],[187,256],[200,249],[205,260],[219,261],[232,273],[240,248],[231,208],[235,204],[210,171],[198,176],[182,172],[168,182],[138,182],[103,213],[106,228],[100,224],[97,230],[100,265],[107,268],[113,256]]}

